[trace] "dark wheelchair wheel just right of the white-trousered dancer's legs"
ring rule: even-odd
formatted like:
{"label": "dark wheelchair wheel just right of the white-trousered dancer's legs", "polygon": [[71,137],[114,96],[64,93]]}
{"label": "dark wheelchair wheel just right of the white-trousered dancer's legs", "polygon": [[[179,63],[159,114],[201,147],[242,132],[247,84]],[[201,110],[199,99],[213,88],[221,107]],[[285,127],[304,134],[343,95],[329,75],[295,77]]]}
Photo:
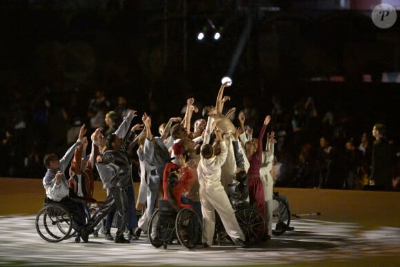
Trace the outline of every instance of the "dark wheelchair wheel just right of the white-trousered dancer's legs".
{"label": "dark wheelchair wheel just right of the white-trousered dancer's legs", "polygon": [[246,237],[246,244],[254,244],[263,237],[266,220],[263,214],[252,207],[241,208],[235,212],[237,222]]}

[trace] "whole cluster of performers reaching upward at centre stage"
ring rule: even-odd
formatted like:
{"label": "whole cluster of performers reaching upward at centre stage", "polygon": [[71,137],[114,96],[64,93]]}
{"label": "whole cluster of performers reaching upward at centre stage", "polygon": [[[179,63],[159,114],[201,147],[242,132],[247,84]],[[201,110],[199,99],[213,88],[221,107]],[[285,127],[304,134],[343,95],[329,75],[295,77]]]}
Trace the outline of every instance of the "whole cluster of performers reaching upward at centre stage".
{"label": "whole cluster of performers reaching upward at centre stage", "polygon": [[[137,111],[130,110],[114,132],[101,127],[94,130],[88,155],[89,142],[83,124],[76,143],[66,155],[61,159],[54,154],[44,157],[48,170],[43,186],[48,199],[73,210],[76,215],[74,228],[85,242],[94,227],[106,216],[114,214],[118,216],[117,232],[114,238],[111,237],[108,226],[108,237],[122,244],[139,239],[141,232],[148,228],[157,199],[167,199],[176,210],[189,207],[198,213],[203,222],[201,243],[204,247],[212,246],[216,211],[234,244],[246,247],[228,198],[228,184],[240,177],[240,180],[248,180],[250,205],[266,217],[264,239],[270,239],[274,132],[267,134],[266,146],[263,146],[263,139],[271,117],[265,117],[257,138],[252,138],[252,132],[245,129],[243,112],[239,114],[240,125],[236,128],[229,119],[235,109],[223,114],[223,105],[230,100],[229,96],[223,96],[228,86],[229,81],[223,83],[215,106],[206,109],[207,121],[191,122],[193,112],[198,109],[194,99],[190,98],[183,119],[170,118],[159,127],[160,136],[154,136],[151,117],[144,112],[141,121],[132,126]],[[110,119],[110,115],[106,119]],[[139,157],[141,176],[136,204],[132,182],[135,152]],[[107,198],[86,221],[82,206],[93,201],[95,170],[107,190]],[[135,208],[143,210],[139,218]],[[128,233],[128,237],[124,233]]]}

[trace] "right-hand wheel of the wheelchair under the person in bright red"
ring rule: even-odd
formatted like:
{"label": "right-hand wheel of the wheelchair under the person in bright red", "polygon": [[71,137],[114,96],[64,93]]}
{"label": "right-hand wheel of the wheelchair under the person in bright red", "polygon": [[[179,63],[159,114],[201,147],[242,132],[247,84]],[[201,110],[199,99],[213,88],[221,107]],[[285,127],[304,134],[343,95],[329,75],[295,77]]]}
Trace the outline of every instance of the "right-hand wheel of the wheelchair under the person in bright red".
{"label": "right-hand wheel of the wheelchair under the person in bright red", "polygon": [[196,248],[201,239],[201,220],[194,210],[179,210],[175,220],[175,230],[179,242],[186,248]]}

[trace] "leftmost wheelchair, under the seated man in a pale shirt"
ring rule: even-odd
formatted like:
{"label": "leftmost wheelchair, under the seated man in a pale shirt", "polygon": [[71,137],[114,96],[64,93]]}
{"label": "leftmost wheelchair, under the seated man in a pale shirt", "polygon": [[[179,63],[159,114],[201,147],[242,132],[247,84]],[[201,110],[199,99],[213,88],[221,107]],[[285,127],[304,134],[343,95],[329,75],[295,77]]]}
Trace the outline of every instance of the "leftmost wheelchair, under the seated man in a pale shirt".
{"label": "leftmost wheelchair, under the seated man in a pale shirt", "polygon": [[[86,221],[90,219],[91,213],[98,209],[98,206],[83,205]],[[73,227],[74,213],[70,212],[66,206],[52,201],[46,197],[43,207],[37,212],[34,224],[37,233],[41,238],[48,242],[57,243],[71,237],[75,238],[75,242],[79,243],[81,237],[77,233],[77,229]],[[94,230],[94,237],[98,236],[98,230]]]}

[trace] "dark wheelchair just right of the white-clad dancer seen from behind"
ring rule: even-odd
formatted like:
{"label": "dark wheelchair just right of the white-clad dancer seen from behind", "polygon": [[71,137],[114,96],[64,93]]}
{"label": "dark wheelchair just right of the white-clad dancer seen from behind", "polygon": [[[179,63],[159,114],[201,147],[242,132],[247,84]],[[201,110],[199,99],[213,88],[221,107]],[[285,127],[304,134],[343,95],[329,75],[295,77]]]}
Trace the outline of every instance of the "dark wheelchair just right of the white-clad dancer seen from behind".
{"label": "dark wheelchair just right of the white-clad dancer seen from behind", "polygon": [[[248,187],[246,182],[235,181],[228,185],[228,197],[234,214],[236,216],[237,222],[245,235],[245,243],[247,245],[252,245],[257,243],[264,235],[266,231],[266,220],[264,215],[250,206],[248,203]],[[221,244],[221,241],[227,237],[225,229],[221,219],[219,219],[218,213],[216,217],[217,223],[215,224],[215,235],[214,241],[217,244]]]}

